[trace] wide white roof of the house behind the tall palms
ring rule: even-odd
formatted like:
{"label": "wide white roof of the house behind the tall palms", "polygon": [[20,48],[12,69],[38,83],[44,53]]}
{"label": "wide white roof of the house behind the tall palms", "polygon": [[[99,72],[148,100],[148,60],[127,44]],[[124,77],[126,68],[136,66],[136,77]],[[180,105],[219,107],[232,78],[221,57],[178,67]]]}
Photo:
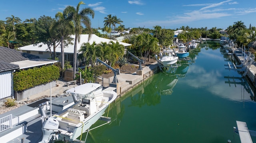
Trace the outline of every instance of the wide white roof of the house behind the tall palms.
{"label": "wide white roof of the house behind the tall palms", "polygon": [[[73,38],[73,41],[72,41],[73,44],[69,44],[68,46],[66,46],[64,48],[64,53],[74,53],[75,35],[72,35],[71,37]],[[88,37],[89,37],[89,34],[81,34],[80,35],[80,42],[77,45],[77,52],[80,50],[80,47],[82,46],[83,43],[88,43],[89,42],[90,44],[92,44],[94,41],[95,41],[96,44],[99,44],[99,43],[102,43],[102,42],[109,43],[110,41],[113,41],[115,43],[117,42],[115,40],[110,40],[110,39],[98,37],[95,34],[91,34],[91,38],[90,38],[89,41],[88,41]],[[131,44],[128,44],[128,43],[124,43],[124,42],[119,42],[119,43],[121,45],[124,45],[124,47],[131,46]],[[40,45],[42,45],[42,47],[40,47]],[[24,47],[19,47],[18,49],[19,50],[24,50],[24,51],[46,51],[48,49],[48,46],[46,44],[43,44],[43,43],[38,43],[38,45],[34,45],[34,44],[27,45],[27,46],[24,46]],[[56,47],[55,50],[56,50],[57,53],[61,53],[60,44]],[[53,47],[51,47],[51,51],[53,51]]]}

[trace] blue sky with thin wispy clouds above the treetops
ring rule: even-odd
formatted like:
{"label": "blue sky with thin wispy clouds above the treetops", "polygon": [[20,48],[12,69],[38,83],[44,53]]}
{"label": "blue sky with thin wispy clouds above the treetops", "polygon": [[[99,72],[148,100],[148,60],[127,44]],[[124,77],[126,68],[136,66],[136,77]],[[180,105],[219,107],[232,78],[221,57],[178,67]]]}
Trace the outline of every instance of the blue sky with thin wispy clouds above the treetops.
{"label": "blue sky with thin wispy clouds above the treetops", "polygon": [[[76,7],[81,0],[4,0],[1,1],[0,20],[11,15],[22,21],[40,16],[55,17],[66,6]],[[153,29],[176,29],[212,27],[225,29],[234,22],[242,21],[256,27],[255,0],[83,0],[94,10],[92,27],[104,26],[104,17],[117,16],[126,28],[145,27]],[[117,25],[118,26],[118,25]]]}

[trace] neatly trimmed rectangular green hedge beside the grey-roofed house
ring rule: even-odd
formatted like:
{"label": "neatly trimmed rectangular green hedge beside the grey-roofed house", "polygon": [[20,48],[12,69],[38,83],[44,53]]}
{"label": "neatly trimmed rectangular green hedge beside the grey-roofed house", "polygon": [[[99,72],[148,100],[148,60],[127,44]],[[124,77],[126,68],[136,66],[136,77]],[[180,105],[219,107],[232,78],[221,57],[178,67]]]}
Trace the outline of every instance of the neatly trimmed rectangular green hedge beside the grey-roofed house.
{"label": "neatly trimmed rectangular green hedge beside the grey-roofed house", "polygon": [[23,91],[40,84],[46,84],[60,77],[59,68],[51,65],[14,72],[13,84],[15,91]]}

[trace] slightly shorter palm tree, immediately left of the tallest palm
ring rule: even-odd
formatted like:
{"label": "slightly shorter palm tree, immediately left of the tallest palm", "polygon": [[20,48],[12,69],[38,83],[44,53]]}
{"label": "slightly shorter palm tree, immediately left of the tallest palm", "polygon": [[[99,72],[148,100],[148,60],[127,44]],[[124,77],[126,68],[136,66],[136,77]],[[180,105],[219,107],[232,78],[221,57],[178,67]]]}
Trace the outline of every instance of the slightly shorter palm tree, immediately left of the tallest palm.
{"label": "slightly shorter palm tree, immediately left of the tallest palm", "polygon": [[62,69],[62,77],[64,76],[64,39],[68,38],[68,35],[72,34],[74,31],[74,24],[72,21],[66,19],[62,12],[58,12],[55,15],[55,18],[58,20],[53,24],[53,26],[50,29],[50,32],[54,30],[58,30],[60,32],[60,43],[61,43],[61,69]]}

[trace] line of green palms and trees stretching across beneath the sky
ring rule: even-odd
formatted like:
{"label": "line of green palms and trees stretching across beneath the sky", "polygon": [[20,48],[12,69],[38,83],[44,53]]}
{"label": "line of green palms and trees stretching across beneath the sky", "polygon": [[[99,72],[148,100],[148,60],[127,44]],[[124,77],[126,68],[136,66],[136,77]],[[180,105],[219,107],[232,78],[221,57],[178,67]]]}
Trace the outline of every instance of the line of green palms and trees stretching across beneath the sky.
{"label": "line of green palms and trees stretching across beneath the sky", "polygon": [[[55,48],[60,45],[61,69],[63,70],[64,47],[71,43],[70,35],[75,35],[73,65],[76,65],[78,58],[77,44],[80,41],[80,34],[96,34],[99,37],[115,39],[115,35],[111,31],[122,33],[122,31],[129,29],[122,25],[123,21],[120,18],[109,14],[103,20],[104,27],[98,27],[104,32],[104,34],[100,34],[98,29],[91,27],[90,18],[94,18],[94,11],[91,8],[80,10],[80,5],[82,4],[85,3],[81,1],[76,7],[67,6],[63,12],[56,13],[55,18],[40,16],[37,20],[30,18],[21,22],[20,18],[12,15],[6,18],[6,21],[0,20],[0,46],[17,49],[25,45],[44,43],[48,45],[48,51],[52,59],[55,59]],[[183,32],[179,33],[177,38],[183,43],[201,37],[218,39],[222,36],[219,32],[222,29],[217,27],[208,29],[207,27],[190,28],[189,26],[182,26],[179,29],[183,30]],[[153,29],[132,28],[129,33],[124,35],[123,42],[132,44],[127,49],[145,62],[147,58],[150,60],[150,56],[158,53],[160,48],[173,44],[175,30],[178,30],[178,28],[163,29],[159,25],[154,26]],[[226,36],[230,37],[230,39],[236,39],[238,45],[247,45],[251,41],[256,41],[255,30],[255,27],[250,25],[249,28],[246,28],[244,22],[238,21],[227,27],[228,35]],[[50,47],[53,47],[53,51],[51,51]],[[91,65],[92,67],[96,57],[100,57],[110,66],[113,66],[118,59],[124,57],[124,47],[119,43],[94,43],[92,45],[84,43],[80,48],[80,52],[83,53],[82,56],[86,59],[86,66]],[[76,71],[76,66],[73,66],[73,68]]]}

